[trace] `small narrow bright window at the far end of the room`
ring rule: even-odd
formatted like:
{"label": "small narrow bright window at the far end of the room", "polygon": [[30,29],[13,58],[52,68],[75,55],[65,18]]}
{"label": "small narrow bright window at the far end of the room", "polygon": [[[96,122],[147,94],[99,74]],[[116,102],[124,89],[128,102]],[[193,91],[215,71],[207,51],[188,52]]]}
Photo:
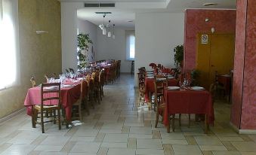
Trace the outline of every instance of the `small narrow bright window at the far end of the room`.
{"label": "small narrow bright window at the far end of the room", "polygon": [[134,31],[126,31],[126,59],[134,60],[135,57],[135,35]]}

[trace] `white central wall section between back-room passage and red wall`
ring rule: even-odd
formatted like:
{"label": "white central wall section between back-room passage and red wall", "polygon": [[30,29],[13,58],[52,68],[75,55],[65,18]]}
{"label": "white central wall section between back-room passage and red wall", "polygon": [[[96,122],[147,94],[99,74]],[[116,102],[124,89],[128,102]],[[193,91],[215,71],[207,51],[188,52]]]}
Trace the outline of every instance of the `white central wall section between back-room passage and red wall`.
{"label": "white central wall section between back-room passage and red wall", "polygon": [[155,62],[174,67],[175,46],[184,43],[184,13],[147,13],[135,16],[135,86],[137,68]]}

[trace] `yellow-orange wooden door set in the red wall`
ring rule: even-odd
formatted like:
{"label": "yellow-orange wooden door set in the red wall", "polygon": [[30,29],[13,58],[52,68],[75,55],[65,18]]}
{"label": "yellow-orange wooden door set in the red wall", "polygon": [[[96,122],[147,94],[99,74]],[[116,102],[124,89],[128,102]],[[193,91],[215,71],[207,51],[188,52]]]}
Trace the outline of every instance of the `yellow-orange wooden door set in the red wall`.
{"label": "yellow-orange wooden door set in the red wall", "polygon": [[208,89],[218,74],[228,74],[233,68],[235,38],[233,34],[208,34],[208,43],[202,44],[202,34],[198,35],[196,68],[201,71],[199,79],[202,87]]}

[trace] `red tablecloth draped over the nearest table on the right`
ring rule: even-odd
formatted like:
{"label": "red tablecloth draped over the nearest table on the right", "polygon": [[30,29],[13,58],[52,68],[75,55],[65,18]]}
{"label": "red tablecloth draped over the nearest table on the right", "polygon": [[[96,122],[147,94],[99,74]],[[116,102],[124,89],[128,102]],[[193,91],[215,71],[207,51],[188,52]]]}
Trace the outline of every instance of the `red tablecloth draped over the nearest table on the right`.
{"label": "red tablecloth draped over the nearest table on the right", "polygon": [[214,123],[211,93],[206,90],[165,90],[165,102],[165,126],[171,114],[207,114],[208,123]]}

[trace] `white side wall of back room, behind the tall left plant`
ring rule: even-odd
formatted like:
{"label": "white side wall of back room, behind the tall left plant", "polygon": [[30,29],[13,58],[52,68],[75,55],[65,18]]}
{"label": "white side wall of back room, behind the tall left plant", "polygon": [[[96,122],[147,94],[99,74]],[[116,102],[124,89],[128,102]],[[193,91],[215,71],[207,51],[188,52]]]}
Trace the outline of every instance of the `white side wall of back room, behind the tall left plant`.
{"label": "white side wall of back room, behind the tall left plant", "polygon": [[78,20],[79,33],[89,34],[93,44],[88,49],[88,62],[94,61],[94,54],[92,53],[92,47],[94,52],[97,51],[97,26],[87,20]]}

